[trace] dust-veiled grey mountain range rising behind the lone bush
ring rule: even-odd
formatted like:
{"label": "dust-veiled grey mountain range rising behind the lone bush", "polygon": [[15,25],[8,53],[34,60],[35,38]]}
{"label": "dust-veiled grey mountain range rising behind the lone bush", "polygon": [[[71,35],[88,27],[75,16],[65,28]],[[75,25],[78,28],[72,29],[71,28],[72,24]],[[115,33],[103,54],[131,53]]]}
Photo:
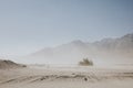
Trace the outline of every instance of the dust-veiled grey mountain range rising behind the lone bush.
{"label": "dust-veiled grey mountain range rising behind the lone bush", "polygon": [[93,43],[73,41],[57,47],[43,48],[24,58],[29,63],[76,64],[84,57],[95,64],[133,64],[133,33]]}

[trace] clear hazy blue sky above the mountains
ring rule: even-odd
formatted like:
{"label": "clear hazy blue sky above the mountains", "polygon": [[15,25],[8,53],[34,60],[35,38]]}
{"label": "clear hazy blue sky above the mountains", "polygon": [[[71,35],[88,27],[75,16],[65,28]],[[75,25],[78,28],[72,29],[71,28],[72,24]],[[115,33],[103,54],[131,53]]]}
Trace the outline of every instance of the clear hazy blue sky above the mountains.
{"label": "clear hazy blue sky above the mountains", "polygon": [[133,33],[133,0],[0,0],[0,55]]}

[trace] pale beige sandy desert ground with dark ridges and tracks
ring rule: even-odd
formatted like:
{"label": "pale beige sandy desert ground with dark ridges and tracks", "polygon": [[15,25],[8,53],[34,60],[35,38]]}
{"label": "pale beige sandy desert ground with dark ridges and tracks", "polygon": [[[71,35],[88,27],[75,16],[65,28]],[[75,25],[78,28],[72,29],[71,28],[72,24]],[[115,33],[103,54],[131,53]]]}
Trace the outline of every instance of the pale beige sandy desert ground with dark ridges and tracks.
{"label": "pale beige sandy desert ground with dark ridges and tracks", "polygon": [[0,69],[0,88],[133,88],[133,67]]}

